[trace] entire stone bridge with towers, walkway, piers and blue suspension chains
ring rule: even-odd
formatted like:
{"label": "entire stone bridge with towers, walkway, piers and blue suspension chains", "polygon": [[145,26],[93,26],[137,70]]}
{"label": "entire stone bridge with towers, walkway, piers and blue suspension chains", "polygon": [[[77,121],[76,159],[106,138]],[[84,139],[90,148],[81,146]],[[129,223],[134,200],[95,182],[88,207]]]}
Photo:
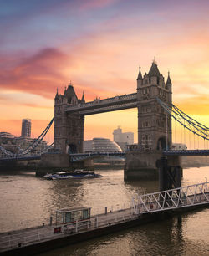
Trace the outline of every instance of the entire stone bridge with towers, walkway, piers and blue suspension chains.
{"label": "entire stone bridge with towers, walkway, piers and blue suspension chains", "polygon": [[[165,80],[155,60],[148,73],[142,76],[139,70],[136,92],[132,94],[116,95],[107,99],[95,98],[93,101],[85,102],[84,94],[79,99],[72,84],[65,88],[63,95],[57,91],[54,98],[53,120],[33,145],[24,150],[21,156],[16,157],[21,159],[27,157],[28,153],[43,140],[54,121],[54,154],[51,152],[51,154],[40,156],[43,167],[62,168],[69,167],[72,162],[81,159],[89,161],[93,155],[96,157],[101,154],[97,152],[89,156],[83,152],[85,115],[130,108],[138,110],[138,146],[125,152],[125,179],[156,179],[158,170],[161,170],[162,190],[172,188],[173,185],[180,186],[180,156],[208,156],[209,151],[208,149],[204,151],[171,150],[171,118],[191,131],[194,136],[207,141],[209,140],[209,128],[201,125],[172,104],[170,74],[168,73]],[[13,158],[11,152],[3,148],[0,150],[10,159]],[[165,173],[168,174],[165,175]],[[167,180],[168,177],[170,181]],[[166,187],[166,184],[170,184],[169,187]]]}

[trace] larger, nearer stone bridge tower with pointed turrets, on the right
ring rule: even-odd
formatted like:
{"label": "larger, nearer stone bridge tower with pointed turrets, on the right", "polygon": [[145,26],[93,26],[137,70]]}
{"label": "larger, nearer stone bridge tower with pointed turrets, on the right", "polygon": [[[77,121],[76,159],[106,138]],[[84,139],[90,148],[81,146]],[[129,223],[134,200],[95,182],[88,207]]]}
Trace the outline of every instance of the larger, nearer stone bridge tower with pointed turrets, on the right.
{"label": "larger, nearer stone bridge tower with pointed turrets, on the right", "polygon": [[171,106],[170,75],[165,83],[154,59],[148,74],[142,77],[139,71],[137,78],[138,144],[142,150],[171,147],[171,116],[156,102],[156,97]]}

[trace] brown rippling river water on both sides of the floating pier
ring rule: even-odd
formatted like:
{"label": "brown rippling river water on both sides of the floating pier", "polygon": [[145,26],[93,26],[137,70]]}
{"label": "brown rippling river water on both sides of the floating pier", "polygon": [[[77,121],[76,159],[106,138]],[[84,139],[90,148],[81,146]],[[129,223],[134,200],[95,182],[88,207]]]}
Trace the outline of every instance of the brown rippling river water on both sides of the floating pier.
{"label": "brown rippling river water on both sides of the floating pier", "polygon": [[[124,182],[123,170],[102,178],[48,181],[35,173],[0,175],[0,233],[49,223],[62,207],[89,206],[92,214],[130,207],[136,194],[158,191],[158,182]],[[184,170],[182,186],[205,182],[209,167]],[[42,255],[209,255],[209,209],[126,229]]]}

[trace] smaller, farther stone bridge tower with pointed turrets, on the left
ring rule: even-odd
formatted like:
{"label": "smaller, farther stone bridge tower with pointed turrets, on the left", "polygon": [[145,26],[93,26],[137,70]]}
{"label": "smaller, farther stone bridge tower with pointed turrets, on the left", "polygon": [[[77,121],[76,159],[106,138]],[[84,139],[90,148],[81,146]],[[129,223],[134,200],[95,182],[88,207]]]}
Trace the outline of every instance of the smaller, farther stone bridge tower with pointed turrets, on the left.
{"label": "smaller, farther stone bridge tower with pointed turrets, on the left", "polygon": [[83,152],[84,115],[65,111],[67,107],[81,102],[84,102],[84,95],[79,100],[72,84],[65,88],[64,95],[57,91],[54,99],[54,148],[64,154]]}

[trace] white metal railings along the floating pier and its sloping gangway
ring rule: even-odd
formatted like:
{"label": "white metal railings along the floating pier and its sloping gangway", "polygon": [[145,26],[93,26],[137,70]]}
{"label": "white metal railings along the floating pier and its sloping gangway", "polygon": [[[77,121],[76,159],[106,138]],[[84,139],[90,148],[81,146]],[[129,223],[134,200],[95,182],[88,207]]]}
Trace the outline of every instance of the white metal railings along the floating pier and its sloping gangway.
{"label": "white metal railings along the floating pier and its sloping gangway", "polygon": [[140,216],[149,212],[163,212],[208,203],[209,182],[145,194],[133,198],[130,208],[95,215],[89,220],[69,224],[53,224],[52,226],[29,228],[22,232],[5,234],[0,236],[0,252],[139,219]]}

